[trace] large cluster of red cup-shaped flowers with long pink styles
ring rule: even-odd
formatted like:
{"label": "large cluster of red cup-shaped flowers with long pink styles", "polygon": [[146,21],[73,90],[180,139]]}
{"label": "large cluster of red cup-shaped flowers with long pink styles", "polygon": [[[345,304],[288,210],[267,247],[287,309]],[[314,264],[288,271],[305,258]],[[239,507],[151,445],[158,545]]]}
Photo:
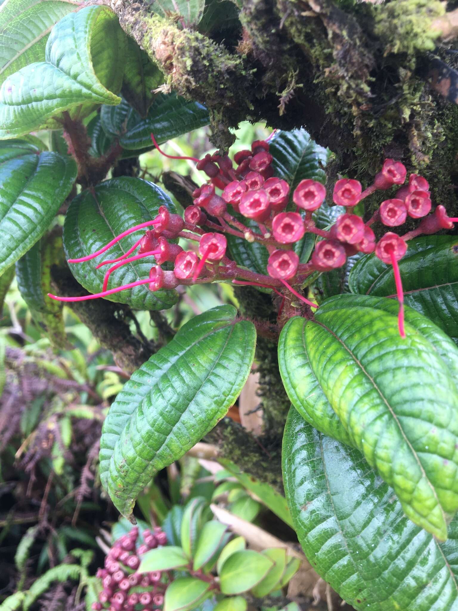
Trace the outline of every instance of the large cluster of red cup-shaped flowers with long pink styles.
{"label": "large cluster of red cup-shaped flowers with long pink styles", "polygon": [[[161,152],[154,137],[151,137]],[[291,300],[293,295],[308,307],[318,307],[299,292],[300,287],[307,284],[307,277],[316,271],[340,268],[347,257],[357,252],[374,252],[380,260],[393,265],[400,304],[399,331],[404,337],[403,293],[398,261],[407,250],[406,241],[421,233],[451,229],[453,222],[457,221],[448,218],[443,206],[438,206],[433,214],[429,214],[431,199],[425,178],[411,174],[408,184],[404,185],[407,172],[404,165],[394,159],[385,159],[373,185],[364,191],[358,180],[341,178],[335,183],[332,199],[335,204],[345,207],[346,212],[338,216],[332,227],[323,230],[316,227],[313,213],[325,200],[324,186],[316,180],[302,180],[291,193],[287,181],[274,177],[269,142],[255,141],[251,150],[236,153],[233,160],[219,153],[205,155],[200,160],[189,159],[193,159],[197,168],[205,172],[208,181],[195,189],[192,194],[193,205],[186,208],[184,218],[170,213],[167,207],[162,206],[152,221],[131,227],[87,257],[70,259],[69,263],[91,260],[126,235],[140,229],[146,230],[124,255],[104,260],[97,265],[97,268],[111,265],[104,276],[101,293],[79,298],[49,296],[61,301],[77,301],[104,297],[140,284],[148,284],[151,291],[156,291],[176,288],[178,285],[229,280],[234,284],[272,288],[283,298],[280,310],[285,298]],[[380,203],[369,221],[364,222],[360,216],[352,213],[352,208],[365,197],[375,191],[386,191],[394,185],[400,186],[396,196]],[[397,227],[408,216],[413,219],[423,218],[417,229],[404,236],[390,231],[376,241],[371,229],[374,221],[379,220],[387,227]],[[250,227],[242,222],[242,218],[250,221]],[[252,229],[256,225],[257,229]],[[310,261],[301,263],[294,245],[305,233],[316,235],[317,242]],[[256,274],[231,260],[227,256],[225,234],[263,244],[269,252],[267,275]],[[181,246],[170,241],[176,241],[176,238],[194,241],[196,247],[184,251]],[[134,251],[137,254],[133,255]],[[108,288],[110,275],[115,269],[144,257],[154,257],[156,262],[156,265],[151,266],[147,279]],[[173,270],[165,271],[161,267],[165,262],[173,263]]]}

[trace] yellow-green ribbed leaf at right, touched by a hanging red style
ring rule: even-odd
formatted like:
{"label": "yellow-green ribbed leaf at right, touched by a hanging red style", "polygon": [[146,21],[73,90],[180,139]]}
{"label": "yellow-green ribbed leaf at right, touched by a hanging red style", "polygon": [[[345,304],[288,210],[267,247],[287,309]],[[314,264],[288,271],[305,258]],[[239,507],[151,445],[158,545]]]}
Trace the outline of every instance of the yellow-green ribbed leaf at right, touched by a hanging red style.
{"label": "yellow-green ribbed leaf at right, touched by a hanging red style", "polygon": [[407,320],[402,339],[380,301],[324,302],[304,327],[308,360],[352,444],[393,486],[407,516],[445,540],[458,509],[458,389],[449,364],[458,350],[437,328],[451,352],[443,356]]}

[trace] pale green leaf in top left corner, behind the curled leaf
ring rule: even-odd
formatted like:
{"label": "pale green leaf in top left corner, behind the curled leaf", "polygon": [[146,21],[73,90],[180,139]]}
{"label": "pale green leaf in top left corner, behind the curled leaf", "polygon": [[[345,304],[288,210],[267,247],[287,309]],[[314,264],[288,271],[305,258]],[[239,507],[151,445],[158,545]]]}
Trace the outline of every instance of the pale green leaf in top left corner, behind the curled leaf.
{"label": "pale green leaf in top left corner, behind the curled leaf", "polygon": [[0,8],[0,84],[20,68],[45,60],[49,32],[62,17],[78,9],[64,0],[7,0]]}

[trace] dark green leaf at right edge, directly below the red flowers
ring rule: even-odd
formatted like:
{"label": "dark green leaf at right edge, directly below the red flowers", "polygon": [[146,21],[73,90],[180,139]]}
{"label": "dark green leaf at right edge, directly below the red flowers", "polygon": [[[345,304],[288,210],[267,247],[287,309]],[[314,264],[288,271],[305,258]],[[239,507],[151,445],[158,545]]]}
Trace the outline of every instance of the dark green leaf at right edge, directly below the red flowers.
{"label": "dark green leaf at right edge, directly below the red flowers", "polygon": [[[428,235],[409,241],[399,261],[404,302],[458,342],[458,239]],[[352,293],[396,297],[393,268],[365,255],[349,276]]]}

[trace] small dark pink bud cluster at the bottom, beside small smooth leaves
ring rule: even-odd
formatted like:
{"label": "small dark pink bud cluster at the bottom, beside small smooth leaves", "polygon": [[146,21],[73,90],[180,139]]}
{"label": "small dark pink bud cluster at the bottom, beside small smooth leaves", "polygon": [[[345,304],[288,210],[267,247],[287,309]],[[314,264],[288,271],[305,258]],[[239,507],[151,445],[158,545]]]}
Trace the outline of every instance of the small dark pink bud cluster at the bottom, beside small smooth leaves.
{"label": "small dark pink bud cluster at the bottom, beside small smooth leaves", "polygon": [[[165,545],[167,537],[159,527],[144,530],[144,543],[137,547],[139,530],[134,527],[118,539],[105,558],[103,569],[96,576],[101,579],[103,590],[92,609],[101,611],[153,611],[162,607],[167,583],[161,571],[136,573],[140,556],[150,549]],[[141,606],[141,607],[140,607]]]}

